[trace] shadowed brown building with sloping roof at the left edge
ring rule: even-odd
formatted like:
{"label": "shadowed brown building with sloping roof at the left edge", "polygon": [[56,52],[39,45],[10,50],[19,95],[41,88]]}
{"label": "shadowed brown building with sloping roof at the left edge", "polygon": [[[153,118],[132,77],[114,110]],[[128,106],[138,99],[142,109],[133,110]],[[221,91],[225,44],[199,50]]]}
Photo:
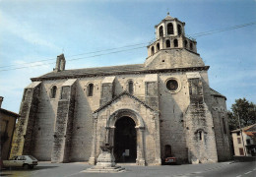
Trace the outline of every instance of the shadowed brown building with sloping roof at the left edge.
{"label": "shadowed brown building with sloping roof at the left edge", "polygon": [[9,159],[12,148],[12,139],[15,130],[16,119],[19,114],[1,108],[3,97],[0,96],[0,137],[1,137],[1,160]]}

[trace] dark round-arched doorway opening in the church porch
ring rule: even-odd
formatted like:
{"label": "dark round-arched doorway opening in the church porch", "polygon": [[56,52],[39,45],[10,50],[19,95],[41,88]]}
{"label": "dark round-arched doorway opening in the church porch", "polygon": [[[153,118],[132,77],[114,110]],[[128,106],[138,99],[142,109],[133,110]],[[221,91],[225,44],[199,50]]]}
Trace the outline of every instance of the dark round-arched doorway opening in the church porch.
{"label": "dark round-arched doorway opening in the church porch", "polygon": [[114,156],[116,162],[136,162],[137,135],[135,122],[124,116],[115,123]]}

